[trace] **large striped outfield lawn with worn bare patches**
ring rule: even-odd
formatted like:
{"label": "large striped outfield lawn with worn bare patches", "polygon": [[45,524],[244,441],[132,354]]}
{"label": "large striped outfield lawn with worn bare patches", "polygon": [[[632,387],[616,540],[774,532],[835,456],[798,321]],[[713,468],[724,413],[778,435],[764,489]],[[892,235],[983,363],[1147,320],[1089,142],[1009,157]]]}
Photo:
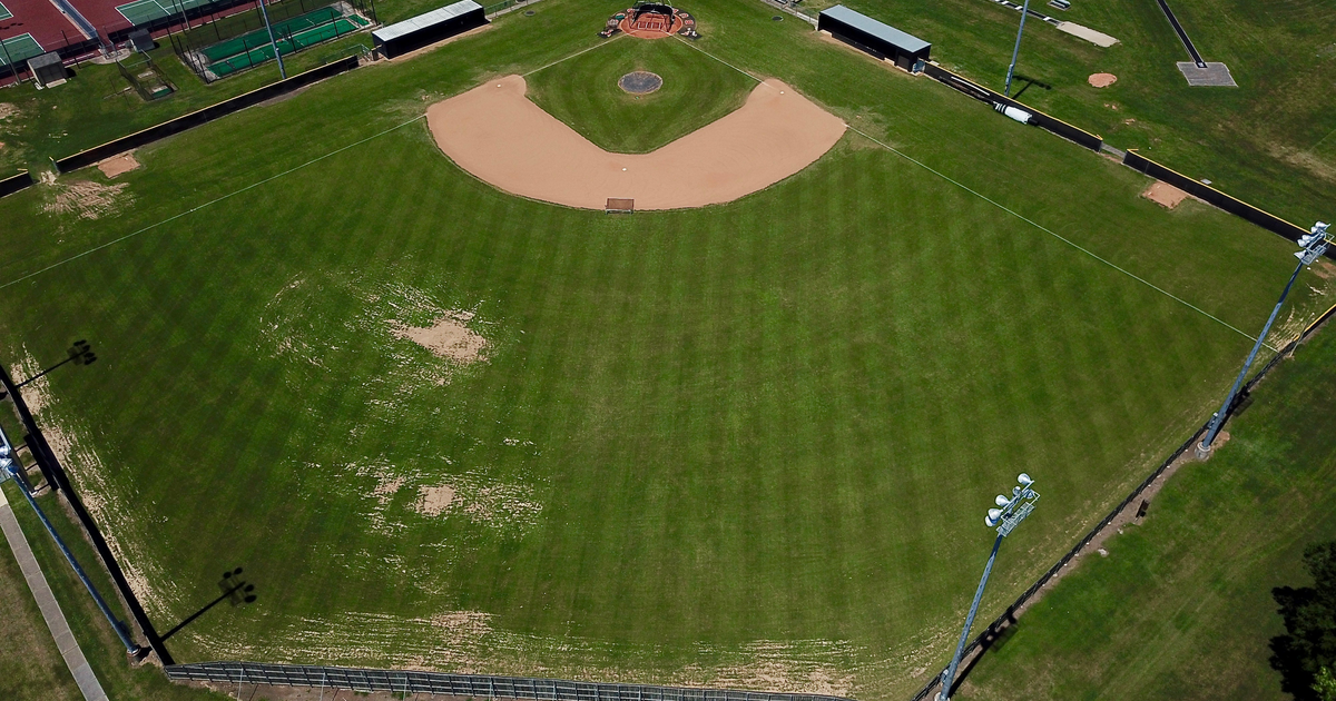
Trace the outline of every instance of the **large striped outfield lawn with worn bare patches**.
{"label": "large striped outfield lawn with worn bare patches", "polygon": [[[850,134],[736,203],[615,218],[504,195],[414,120],[615,9],[542,3],[144,148],[96,220],[44,211],[96,172],[0,200],[3,357],[98,350],[29,387],[150,614],[236,565],[262,592],[180,660],[902,694],[993,493],[1051,497],[985,616],[1213,409],[1250,344],[1225,324],[1289,272],[1277,236],[760,4],[703,0],[693,45],[937,175]],[[1331,292],[1305,272],[1277,336]],[[391,332],[452,308],[485,362]],[[432,486],[461,501],[425,515]]]}

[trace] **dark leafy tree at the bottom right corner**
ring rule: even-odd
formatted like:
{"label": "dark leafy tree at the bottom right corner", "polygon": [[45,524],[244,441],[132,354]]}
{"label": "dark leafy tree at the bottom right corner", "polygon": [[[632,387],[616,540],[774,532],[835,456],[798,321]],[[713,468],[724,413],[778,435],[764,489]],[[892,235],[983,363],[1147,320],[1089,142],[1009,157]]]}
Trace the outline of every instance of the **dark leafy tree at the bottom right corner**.
{"label": "dark leafy tree at the bottom right corner", "polygon": [[1271,596],[1287,634],[1271,638],[1271,666],[1297,701],[1336,701],[1336,541],[1304,550],[1313,586],[1277,586]]}

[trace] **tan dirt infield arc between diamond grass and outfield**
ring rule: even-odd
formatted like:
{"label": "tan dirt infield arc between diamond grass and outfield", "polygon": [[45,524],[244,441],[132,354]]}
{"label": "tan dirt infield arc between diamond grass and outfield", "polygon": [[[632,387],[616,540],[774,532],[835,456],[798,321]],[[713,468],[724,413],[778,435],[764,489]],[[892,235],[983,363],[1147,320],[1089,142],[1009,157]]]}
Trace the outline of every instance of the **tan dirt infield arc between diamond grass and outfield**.
{"label": "tan dirt infield arc between diamond grass and outfield", "polygon": [[652,154],[611,154],[529,101],[506,76],[433,104],[437,146],[478,179],[514,195],[603,210],[608,198],[636,210],[732,202],[812,164],[844,123],[779,80],[756,87],[737,111]]}

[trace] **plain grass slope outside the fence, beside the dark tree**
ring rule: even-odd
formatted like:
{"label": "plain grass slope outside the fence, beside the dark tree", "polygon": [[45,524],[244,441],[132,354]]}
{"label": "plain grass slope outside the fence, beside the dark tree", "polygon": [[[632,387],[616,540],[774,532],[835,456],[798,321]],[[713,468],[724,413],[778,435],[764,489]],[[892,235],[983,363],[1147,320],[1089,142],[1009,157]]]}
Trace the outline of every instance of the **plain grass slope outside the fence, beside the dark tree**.
{"label": "plain grass slope outside the fence, beside the dark tree", "polygon": [[959,698],[1291,698],[1268,644],[1271,590],[1309,586],[1304,547],[1336,538],[1336,334],[1300,346],[1208,463],[1165,486],[986,656]]}

